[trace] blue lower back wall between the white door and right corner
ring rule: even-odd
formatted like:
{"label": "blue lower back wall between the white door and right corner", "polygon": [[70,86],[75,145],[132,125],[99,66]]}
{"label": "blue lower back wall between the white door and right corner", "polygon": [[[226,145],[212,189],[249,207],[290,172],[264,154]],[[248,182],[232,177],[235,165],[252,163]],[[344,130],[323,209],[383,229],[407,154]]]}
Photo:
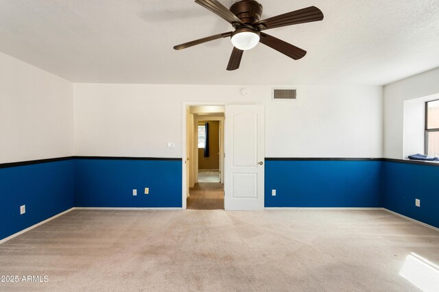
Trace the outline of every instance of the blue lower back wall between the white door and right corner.
{"label": "blue lower back wall between the white door and right corner", "polygon": [[265,207],[381,207],[382,163],[266,160]]}

